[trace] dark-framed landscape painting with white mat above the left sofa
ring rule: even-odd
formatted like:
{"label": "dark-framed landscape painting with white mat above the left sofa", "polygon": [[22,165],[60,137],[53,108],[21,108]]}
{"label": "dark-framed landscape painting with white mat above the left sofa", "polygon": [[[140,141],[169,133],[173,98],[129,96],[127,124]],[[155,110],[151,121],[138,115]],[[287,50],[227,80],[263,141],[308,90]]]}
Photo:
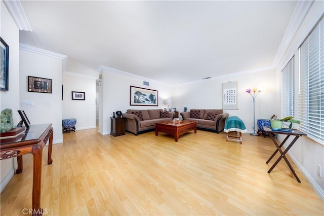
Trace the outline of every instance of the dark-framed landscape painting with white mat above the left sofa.
{"label": "dark-framed landscape painting with white mat above the left sofa", "polygon": [[131,86],[130,105],[131,106],[157,106],[158,91]]}

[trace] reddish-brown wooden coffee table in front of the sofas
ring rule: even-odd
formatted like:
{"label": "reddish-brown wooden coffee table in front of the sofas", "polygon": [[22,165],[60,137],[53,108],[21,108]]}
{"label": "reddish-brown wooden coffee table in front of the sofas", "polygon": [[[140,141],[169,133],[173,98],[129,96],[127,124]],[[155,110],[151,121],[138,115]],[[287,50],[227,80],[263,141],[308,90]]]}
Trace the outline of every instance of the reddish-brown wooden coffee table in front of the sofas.
{"label": "reddish-brown wooden coffee table in front of the sofas", "polygon": [[179,140],[179,136],[181,134],[187,133],[191,130],[194,130],[194,133],[197,133],[196,121],[182,120],[179,123],[169,121],[169,122],[158,122],[155,124],[156,136],[158,132],[168,133],[174,135],[176,142]]}

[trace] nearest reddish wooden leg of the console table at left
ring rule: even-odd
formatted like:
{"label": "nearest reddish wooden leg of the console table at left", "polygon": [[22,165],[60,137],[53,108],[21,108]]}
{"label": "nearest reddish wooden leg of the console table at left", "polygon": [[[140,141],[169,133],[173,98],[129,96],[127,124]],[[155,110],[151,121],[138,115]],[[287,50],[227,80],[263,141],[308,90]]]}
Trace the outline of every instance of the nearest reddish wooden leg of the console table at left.
{"label": "nearest reddish wooden leg of the console table at left", "polygon": [[33,155],[33,181],[32,181],[32,204],[33,215],[42,215],[41,209],[41,186],[42,186],[42,154],[43,148],[39,145],[31,149]]}

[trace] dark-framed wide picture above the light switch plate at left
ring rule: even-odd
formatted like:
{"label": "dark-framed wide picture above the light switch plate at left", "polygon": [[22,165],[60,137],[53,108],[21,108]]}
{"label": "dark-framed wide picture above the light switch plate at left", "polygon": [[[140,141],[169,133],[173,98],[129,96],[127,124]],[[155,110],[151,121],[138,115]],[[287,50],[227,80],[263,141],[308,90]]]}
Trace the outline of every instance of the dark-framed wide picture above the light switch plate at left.
{"label": "dark-framed wide picture above the light switch plate at left", "polygon": [[52,79],[28,76],[28,91],[52,94]]}

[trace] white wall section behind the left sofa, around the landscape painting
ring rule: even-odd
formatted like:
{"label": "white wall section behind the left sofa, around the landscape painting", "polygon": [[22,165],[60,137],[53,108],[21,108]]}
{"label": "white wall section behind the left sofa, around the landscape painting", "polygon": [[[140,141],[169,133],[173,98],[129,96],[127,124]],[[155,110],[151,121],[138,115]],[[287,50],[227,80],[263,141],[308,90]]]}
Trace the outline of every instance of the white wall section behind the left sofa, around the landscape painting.
{"label": "white wall section behind the left sofa, around the landscape painting", "polygon": [[[110,133],[110,117],[113,112],[125,113],[128,109],[163,109],[166,105],[163,101],[170,97],[170,88],[149,81],[149,86],[144,86],[140,78],[118,74],[108,69],[101,71],[102,79],[99,86],[99,132],[103,135]],[[130,86],[137,86],[158,91],[158,106],[131,106]]]}

